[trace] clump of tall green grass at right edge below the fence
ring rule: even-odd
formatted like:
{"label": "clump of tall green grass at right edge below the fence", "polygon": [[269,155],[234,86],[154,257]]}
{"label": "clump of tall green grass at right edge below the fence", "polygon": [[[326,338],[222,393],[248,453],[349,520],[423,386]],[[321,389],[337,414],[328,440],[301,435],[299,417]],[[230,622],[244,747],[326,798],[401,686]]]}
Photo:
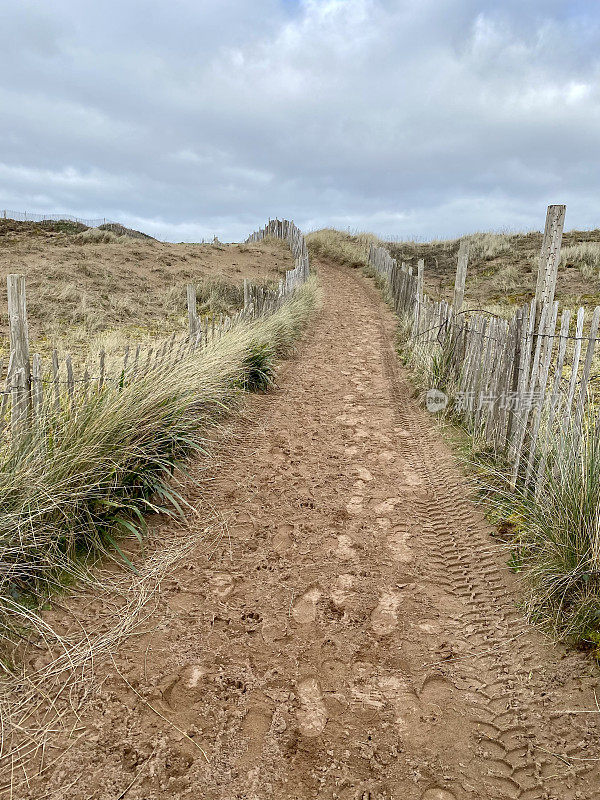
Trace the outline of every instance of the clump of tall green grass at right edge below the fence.
{"label": "clump of tall green grass at right edge below the fence", "polygon": [[[600,439],[592,419],[581,435],[548,434],[543,488],[487,483],[522,574],[531,621],[560,639],[600,646]],[[493,476],[492,476],[493,477]],[[496,478],[500,477],[498,473]],[[486,483],[486,476],[483,476]]]}

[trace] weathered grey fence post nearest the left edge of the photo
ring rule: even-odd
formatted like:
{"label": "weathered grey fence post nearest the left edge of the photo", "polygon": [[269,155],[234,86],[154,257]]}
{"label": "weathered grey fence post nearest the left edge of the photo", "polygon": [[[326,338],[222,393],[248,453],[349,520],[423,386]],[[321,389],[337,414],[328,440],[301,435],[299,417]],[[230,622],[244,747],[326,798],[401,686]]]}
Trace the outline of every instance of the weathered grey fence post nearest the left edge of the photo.
{"label": "weathered grey fence post nearest the left edge of the photo", "polygon": [[8,324],[10,335],[11,373],[10,381],[18,376],[13,392],[13,433],[16,427],[27,425],[31,413],[31,366],[29,362],[29,329],[27,327],[27,303],[25,298],[25,276],[8,275]]}

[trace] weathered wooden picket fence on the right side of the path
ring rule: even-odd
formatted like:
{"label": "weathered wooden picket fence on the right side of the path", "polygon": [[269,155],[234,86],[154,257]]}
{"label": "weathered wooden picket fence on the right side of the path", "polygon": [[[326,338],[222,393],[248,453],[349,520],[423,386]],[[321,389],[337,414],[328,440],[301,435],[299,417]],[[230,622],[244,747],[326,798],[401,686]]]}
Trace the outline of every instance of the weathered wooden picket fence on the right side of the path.
{"label": "weathered wooden picket fence on the right side of the path", "polygon": [[[510,465],[513,487],[536,493],[551,446],[571,448],[567,455],[576,458],[583,426],[594,414],[589,389],[600,307],[591,320],[579,308],[573,321],[569,309],[559,314],[554,300],[565,210],[548,207],[535,297],[510,319],[463,309],[466,240],[459,248],[452,303],[424,294],[422,260],[414,273],[385,248],[371,245],[368,254],[404,321],[413,364],[429,369],[430,380],[443,374],[443,385],[431,389],[452,395],[453,410],[468,430]],[[431,369],[434,362],[437,369]],[[435,392],[431,401],[434,409],[445,402]]]}

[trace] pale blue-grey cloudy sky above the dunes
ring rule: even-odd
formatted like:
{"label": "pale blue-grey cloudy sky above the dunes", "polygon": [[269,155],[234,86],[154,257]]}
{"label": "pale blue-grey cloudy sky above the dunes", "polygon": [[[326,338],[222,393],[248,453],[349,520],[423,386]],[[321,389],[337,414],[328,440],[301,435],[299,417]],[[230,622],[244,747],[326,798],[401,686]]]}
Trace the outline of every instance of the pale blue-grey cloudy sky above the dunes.
{"label": "pale blue-grey cloudy sky above the dunes", "polygon": [[0,209],[600,227],[598,0],[1,0]]}

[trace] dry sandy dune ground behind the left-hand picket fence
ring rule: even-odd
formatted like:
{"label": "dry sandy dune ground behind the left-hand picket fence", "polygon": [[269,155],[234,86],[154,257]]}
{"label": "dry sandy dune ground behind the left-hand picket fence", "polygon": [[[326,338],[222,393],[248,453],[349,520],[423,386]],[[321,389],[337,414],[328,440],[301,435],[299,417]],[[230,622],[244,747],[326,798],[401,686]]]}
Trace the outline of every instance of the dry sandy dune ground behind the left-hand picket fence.
{"label": "dry sandy dune ground behind the left-hand picket fence", "polygon": [[185,321],[186,284],[262,282],[291,267],[285,242],[169,244],[129,237],[82,242],[26,224],[3,228],[0,220],[0,336],[8,334],[10,272],[27,278],[30,337],[43,351],[44,340],[69,334],[84,346],[90,336],[109,329],[170,333]]}

